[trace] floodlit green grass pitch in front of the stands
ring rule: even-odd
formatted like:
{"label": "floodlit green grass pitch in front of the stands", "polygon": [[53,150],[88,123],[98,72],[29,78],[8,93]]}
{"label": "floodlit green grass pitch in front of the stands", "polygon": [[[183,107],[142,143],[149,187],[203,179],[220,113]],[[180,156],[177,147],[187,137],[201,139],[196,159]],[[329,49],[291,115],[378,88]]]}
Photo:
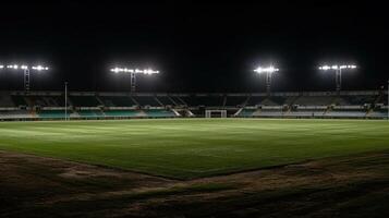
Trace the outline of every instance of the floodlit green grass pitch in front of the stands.
{"label": "floodlit green grass pitch in front of the stands", "polygon": [[270,119],[2,122],[0,149],[191,179],[389,150],[389,122]]}

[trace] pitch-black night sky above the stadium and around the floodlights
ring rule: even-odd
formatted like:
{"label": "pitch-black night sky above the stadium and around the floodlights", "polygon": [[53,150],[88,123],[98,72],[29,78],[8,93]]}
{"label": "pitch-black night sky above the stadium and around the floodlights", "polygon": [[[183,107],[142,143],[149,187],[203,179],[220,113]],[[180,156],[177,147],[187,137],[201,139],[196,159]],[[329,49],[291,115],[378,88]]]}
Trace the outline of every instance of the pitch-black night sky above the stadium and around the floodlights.
{"label": "pitch-black night sky above the stadium and around the floodlights", "polygon": [[[268,63],[280,68],[273,90],[332,90],[333,74],[316,70],[324,62],[360,66],[344,73],[344,89],[387,83],[384,3],[226,2],[1,2],[0,64],[48,64],[33,89],[69,81],[72,90],[129,90],[129,76],[109,72],[117,64],[160,70],[138,76],[141,92],[260,92],[252,70]],[[22,89],[23,76],[1,71],[0,85]]]}

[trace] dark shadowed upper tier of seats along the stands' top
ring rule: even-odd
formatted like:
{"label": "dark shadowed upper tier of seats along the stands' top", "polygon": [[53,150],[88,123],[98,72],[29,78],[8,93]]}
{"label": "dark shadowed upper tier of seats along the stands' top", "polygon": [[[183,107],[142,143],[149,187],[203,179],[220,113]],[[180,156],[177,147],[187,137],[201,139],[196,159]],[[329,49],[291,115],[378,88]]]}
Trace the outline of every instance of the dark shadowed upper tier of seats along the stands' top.
{"label": "dark shadowed upper tier of seats along the stands' top", "polygon": [[[182,106],[190,107],[236,107],[236,106],[349,106],[386,102],[386,97],[374,95],[361,96],[70,96],[69,104],[76,107],[133,107],[133,106]],[[62,96],[12,96],[14,106],[63,107]],[[8,104],[9,107],[10,104]],[[2,106],[3,107],[3,106]]]}

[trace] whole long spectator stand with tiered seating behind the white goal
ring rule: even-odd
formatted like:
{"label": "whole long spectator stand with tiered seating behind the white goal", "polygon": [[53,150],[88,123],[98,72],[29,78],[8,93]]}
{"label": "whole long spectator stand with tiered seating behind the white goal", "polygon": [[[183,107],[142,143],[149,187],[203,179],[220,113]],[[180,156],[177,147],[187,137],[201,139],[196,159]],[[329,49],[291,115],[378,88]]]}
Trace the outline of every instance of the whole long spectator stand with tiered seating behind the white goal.
{"label": "whole long spectator stand with tiered seating behind the white goal", "polygon": [[[228,117],[384,119],[387,97],[381,90],[271,95],[74,92],[69,94],[68,106],[74,119],[205,117],[207,109],[227,110]],[[63,106],[60,92],[0,92],[1,120],[62,119]]]}

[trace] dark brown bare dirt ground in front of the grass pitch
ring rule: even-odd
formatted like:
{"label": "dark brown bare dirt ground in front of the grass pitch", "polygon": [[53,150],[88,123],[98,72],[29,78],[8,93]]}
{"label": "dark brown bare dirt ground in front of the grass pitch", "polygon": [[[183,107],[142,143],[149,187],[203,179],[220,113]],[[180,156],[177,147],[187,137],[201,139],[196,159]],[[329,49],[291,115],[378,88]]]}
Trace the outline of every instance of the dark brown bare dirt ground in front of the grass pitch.
{"label": "dark brown bare dirt ground in front of the grass pitch", "polygon": [[365,217],[372,213],[385,217],[389,213],[388,154],[191,181],[7,152],[0,152],[0,217]]}

